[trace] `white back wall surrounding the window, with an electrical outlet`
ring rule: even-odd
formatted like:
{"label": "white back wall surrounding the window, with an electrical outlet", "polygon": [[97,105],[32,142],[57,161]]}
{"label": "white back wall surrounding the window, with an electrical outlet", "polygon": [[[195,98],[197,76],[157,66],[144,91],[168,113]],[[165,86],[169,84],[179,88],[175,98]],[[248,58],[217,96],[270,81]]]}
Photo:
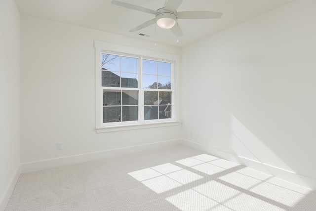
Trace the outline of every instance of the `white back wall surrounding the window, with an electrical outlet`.
{"label": "white back wall surrounding the window, with an electrical outlet", "polygon": [[21,15],[22,166],[179,139],[180,126],[96,133],[94,40],[181,53],[173,46]]}

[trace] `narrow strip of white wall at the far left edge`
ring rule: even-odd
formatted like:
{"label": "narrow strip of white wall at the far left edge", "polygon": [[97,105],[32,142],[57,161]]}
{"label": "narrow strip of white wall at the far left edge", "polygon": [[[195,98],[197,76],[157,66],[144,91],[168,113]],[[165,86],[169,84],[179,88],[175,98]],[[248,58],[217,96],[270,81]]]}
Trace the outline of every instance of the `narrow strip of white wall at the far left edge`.
{"label": "narrow strip of white wall at the far left edge", "polygon": [[19,27],[14,0],[0,1],[0,210],[19,175]]}

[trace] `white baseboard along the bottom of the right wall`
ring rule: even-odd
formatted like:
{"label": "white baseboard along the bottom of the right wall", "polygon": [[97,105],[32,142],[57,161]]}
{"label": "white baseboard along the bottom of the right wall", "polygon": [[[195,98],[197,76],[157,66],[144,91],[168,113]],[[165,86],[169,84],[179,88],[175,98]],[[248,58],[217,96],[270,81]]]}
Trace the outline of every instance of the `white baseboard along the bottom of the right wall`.
{"label": "white baseboard along the bottom of the right wall", "polygon": [[286,181],[289,182],[293,182],[295,184],[307,187],[307,188],[311,188],[313,190],[316,190],[316,179],[310,178],[308,176],[304,176],[304,175],[300,175],[297,174],[295,172],[286,170],[286,169],[280,169],[274,166],[270,166],[267,164],[263,164],[260,163],[258,161],[253,161],[247,158],[243,158],[240,156],[237,156],[235,154],[231,154],[228,152],[224,152],[212,147],[207,147],[204,146],[202,144],[193,142],[193,141],[188,141],[188,140],[181,140],[181,143],[183,145],[189,146],[191,148],[200,150],[204,153],[228,160],[228,161],[232,161],[235,163],[238,163],[240,165],[252,168],[252,169],[256,169],[259,170],[261,172],[276,176],[278,178],[284,179]]}

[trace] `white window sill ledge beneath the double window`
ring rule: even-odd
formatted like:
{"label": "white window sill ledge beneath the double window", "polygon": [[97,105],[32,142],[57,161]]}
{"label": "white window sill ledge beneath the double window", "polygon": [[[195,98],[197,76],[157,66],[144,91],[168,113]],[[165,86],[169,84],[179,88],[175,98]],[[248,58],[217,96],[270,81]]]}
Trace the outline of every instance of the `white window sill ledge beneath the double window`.
{"label": "white window sill ledge beneath the double window", "polygon": [[179,121],[123,125],[123,126],[108,126],[108,127],[97,127],[96,132],[97,133],[117,132],[117,131],[123,131],[123,130],[146,129],[146,128],[154,128],[154,127],[170,127],[170,126],[178,126],[178,125],[180,125]]}

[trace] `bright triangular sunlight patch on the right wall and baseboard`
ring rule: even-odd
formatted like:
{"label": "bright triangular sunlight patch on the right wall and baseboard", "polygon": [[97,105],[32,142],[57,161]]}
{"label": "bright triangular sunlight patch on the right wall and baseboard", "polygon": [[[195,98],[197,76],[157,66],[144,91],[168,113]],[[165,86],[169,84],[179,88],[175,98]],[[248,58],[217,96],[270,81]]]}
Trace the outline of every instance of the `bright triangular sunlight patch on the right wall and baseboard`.
{"label": "bright triangular sunlight patch on the right wall and baseboard", "polygon": [[245,166],[259,169],[305,187],[316,188],[313,178],[300,175],[287,166],[232,114],[230,115],[230,142],[232,149]]}

